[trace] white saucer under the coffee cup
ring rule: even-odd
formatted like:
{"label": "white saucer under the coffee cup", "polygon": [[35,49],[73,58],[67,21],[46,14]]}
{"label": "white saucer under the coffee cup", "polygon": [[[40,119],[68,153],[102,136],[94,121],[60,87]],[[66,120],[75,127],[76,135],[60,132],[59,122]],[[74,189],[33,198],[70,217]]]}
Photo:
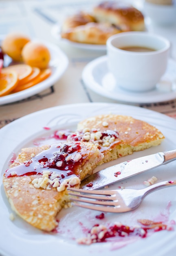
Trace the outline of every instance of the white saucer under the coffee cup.
{"label": "white saucer under the coffee cup", "polygon": [[176,62],[172,59],[169,59],[167,70],[156,89],[147,92],[130,92],[115,86],[114,76],[108,70],[107,56],[88,63],[82,72],[82,79],[92,91],[122,102],[156,103],[176,98]]}

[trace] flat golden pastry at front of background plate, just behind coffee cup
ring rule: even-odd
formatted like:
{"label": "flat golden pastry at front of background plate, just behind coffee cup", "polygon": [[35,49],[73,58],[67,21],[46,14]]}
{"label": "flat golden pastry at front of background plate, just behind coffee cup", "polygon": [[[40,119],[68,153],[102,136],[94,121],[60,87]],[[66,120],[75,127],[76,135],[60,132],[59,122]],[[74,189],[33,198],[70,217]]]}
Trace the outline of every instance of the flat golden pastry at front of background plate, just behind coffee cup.
{"label": "flat golden pastry at front of background plate, just behind coffee cup", "polygon": [[105,45],[110,36],[121,31],[120,28],[107,23],[88,22],[62,33],[62,38],[77,43]]}

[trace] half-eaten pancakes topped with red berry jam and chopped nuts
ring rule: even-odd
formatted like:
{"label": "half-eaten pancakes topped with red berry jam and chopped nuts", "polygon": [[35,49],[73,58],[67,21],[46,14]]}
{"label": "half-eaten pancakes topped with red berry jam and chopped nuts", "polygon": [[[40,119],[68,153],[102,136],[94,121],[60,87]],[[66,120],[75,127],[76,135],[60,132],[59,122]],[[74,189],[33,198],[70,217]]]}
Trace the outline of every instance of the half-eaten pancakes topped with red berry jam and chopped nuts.
{"label": "half-eaten pancakes topped with red berry jam and chopped nuts", "polygon": [[67,187],[78,187],[95,167],[134,151],[161,144],[154,126],[122,115],[99,115],[81,121],[67,141],[23,148],[4,173],[12,209],[44,231],[57,225],[57,213],[69,202]]}

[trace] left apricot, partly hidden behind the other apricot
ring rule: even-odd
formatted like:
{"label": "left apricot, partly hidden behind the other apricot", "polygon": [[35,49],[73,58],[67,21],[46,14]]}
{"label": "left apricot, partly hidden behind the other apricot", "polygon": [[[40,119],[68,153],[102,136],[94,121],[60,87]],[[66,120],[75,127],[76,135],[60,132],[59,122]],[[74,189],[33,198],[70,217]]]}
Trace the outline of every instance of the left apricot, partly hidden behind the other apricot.
{"label": "left apricot, partly hidden behind the other apricot", "polygon": [[9,33],[2,40],[2,52],[9,55],[14,61],[22,61],[22,49],[30,38],[20,33]]}

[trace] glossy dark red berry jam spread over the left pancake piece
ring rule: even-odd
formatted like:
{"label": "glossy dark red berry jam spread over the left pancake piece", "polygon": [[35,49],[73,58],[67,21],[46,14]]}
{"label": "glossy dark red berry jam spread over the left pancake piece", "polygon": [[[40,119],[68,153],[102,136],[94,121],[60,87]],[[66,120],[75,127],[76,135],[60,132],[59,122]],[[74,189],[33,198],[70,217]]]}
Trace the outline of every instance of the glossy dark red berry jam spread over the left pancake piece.
{"label": "glossy dark red berry jam spread over the left pancake piece", "polygon": [[86,158],[86,147],[80,143],[53,144],[29,161],[7,169],[5,177],[41,174],[43,171],[56,172],[64,179],[77,175],[77,166]]}

